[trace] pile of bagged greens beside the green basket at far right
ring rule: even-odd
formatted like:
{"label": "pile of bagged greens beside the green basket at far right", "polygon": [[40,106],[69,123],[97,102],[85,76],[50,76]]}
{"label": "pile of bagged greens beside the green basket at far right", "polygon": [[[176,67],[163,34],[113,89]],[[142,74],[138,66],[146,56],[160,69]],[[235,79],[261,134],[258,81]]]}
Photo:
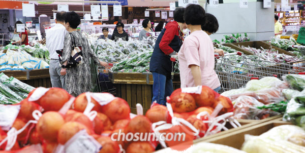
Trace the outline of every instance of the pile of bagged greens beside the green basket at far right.
{"label": "pile of bagged greens beside the green basket at far right", "polygon": [[276,46],[278,48],[282,48],[287,51],[299,51],[297,48],[293,48],[293,45],[296,45],[296,41],[293,37],[290,37],[290,40],[280,39],[279,37],[272,37],[269,44]]}

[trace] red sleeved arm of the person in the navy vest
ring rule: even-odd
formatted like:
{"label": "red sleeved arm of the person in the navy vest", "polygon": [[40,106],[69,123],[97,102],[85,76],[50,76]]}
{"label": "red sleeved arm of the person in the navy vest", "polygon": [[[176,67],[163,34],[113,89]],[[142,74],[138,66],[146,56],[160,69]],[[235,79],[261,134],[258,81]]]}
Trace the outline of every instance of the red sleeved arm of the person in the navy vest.
{"label": "red sleeved arm of the person in the navy vest", "polygon": [[172,42],[176,33],[178,32],[177,28],[178,27],[176,27],[175,25],[167,26],[165,33],[162,36],[159,48],[165,55],[169,55],[174,52],[174,50],[169,46],[169,44]]}

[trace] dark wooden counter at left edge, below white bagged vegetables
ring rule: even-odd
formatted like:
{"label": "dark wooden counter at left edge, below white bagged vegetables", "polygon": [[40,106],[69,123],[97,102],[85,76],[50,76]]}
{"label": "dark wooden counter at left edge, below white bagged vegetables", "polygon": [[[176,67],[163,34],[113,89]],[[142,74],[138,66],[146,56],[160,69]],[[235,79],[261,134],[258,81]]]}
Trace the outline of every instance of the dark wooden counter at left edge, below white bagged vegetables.
{"label": "dark wooden counter at left edge, below white bagged vegetables", "polygon": [[12,76],[35,88],[52,87],[51,80],[50,80],[50,74],[49,74],[49,68],[34,69],[34,70],[0,71],[0,72],[5,73],[9,77]]}

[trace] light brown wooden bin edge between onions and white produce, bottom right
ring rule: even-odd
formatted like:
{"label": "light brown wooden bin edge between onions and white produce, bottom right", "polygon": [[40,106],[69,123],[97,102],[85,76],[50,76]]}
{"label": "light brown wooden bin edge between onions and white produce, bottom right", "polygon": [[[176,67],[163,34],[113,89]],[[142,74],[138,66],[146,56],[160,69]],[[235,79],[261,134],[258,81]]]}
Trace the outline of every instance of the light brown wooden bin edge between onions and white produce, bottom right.
{"label": "light brown wooden bin edge between onions and white produce, bottom right", "polygon": [[273,127],[281,125],[291,125],[290,122],[280,121],[280,118],[272,118],[273,120],[266,120],[258,124],[248,124],[240,128],[230,129],[228,131],[220,132],[210,137],[205,137],[203,139],[195,140],[194,142],[211,142],[217,144],[228,145],[237,149],[240,149],[243,142],[245,142],[245,134],[250,135],[261,135]]}

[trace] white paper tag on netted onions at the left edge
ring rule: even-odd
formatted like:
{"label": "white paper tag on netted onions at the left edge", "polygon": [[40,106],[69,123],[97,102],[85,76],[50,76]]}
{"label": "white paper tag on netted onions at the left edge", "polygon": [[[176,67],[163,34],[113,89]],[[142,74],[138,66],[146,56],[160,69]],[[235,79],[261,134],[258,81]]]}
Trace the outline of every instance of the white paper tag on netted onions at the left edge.
{"label": "white paper tag on netted onions at the left edge", "polygon": [[[1,99],[5,98],[0,95]],[[14,121],[16,120],[21,105],[0,105],[0,126],[2,130],[10,130]]]}

